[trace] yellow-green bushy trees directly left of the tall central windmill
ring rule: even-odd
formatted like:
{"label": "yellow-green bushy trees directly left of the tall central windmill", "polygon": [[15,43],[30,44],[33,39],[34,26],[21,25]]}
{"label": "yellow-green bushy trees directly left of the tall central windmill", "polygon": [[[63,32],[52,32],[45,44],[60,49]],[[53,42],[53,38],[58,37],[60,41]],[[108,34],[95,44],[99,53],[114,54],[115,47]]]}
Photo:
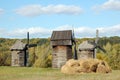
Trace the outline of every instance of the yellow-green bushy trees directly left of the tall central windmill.
{"label": "yellow-green bushy trees directly left of the tall central windmill", "polygon": [[[44,40],[45,41],[45,40]],[[43,41],[43,42],[44,42]],[[38,57],[34,63],[34,67],[51,67],[51,46],[50,41],[37,47],[36,56]]]}

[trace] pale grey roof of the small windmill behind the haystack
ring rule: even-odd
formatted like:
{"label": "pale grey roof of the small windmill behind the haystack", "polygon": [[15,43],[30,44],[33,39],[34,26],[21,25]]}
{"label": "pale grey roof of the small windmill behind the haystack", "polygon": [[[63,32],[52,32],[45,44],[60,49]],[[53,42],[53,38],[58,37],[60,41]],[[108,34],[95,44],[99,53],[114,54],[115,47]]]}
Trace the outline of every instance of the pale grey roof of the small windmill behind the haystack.
{"label": "pale grey roof of the small windmill behind the haystack", "polygon": [[84,41],[79,46],[79,50],[93,50],[96,47],[94,42]]}

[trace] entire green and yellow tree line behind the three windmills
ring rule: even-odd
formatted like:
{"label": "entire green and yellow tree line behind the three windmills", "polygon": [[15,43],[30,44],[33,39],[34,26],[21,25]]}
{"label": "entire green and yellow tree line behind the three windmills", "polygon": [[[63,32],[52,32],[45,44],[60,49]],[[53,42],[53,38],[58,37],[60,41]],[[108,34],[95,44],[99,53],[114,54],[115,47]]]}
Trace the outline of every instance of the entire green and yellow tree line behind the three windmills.
{"label": "entire green and yellow tree line behind the three windmills", "polygon": [[[18,39],[0,38],[0,66],[11,65],[10,47]],[[26,39],[21,39],[27,43]],[[77,38],[77,46],[85,40],[95,40],[95,38]],[[30,44],[37,44],[37,47],[29,48],[29,63],[30,67],[51,67],[52,61],[52,46],[50,38],[32,38]],[[97,50],[97,58],[105,60],[112,69],[120,69],[120,37],[101,37],[98,44],[106,50],[103,53]]]}

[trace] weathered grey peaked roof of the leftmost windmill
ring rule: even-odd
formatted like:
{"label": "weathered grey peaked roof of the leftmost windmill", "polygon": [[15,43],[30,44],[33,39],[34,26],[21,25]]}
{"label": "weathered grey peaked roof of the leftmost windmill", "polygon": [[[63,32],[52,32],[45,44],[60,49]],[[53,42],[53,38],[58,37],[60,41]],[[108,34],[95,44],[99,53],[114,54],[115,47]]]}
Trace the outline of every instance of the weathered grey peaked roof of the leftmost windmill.
{"label": "weathered grey peaked roof of the leftmost windmill", "polygon": [[21,40],[17,40],[15,44],[10,48],[10,50],[24,50],[26,48],[26,44],[21,42]]}

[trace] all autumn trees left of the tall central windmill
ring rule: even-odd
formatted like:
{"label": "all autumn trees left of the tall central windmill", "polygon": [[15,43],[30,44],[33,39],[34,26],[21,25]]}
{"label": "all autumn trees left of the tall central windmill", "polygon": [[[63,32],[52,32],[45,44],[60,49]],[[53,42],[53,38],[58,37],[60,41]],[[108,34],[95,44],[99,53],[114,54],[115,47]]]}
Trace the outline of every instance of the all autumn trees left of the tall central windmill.
{"label": "all autumn trees left of the tall central windmill", "polygon": [[[17,39],[0,38],[0,66],[11,65],[11,51],[10,47]],[[22,39],[27,43],[26,39]],[[50,39],[30,39],[30,44],[37,44],[37,47],[29,48],[28,66],[35,67],[51,67],[51,49]]]}

